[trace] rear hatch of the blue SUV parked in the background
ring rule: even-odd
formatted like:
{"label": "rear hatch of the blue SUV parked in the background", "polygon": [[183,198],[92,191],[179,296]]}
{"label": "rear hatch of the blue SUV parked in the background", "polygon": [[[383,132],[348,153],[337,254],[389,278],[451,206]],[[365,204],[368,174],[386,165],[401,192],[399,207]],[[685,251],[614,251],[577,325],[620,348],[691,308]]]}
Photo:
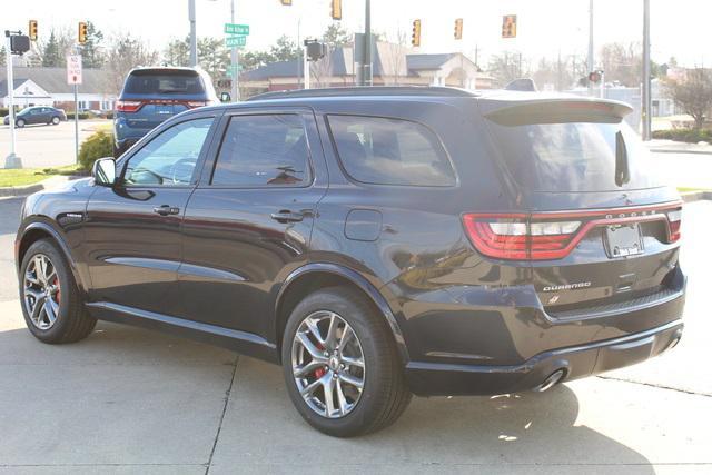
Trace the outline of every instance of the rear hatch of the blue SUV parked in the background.
{"label": "rear hatch of the blue SUV parked in the background", "polygon": [[117,101],[128,127],[152,129],[184,110],[208,105],[206,85],[191,69],[137,69],[129,73]]}

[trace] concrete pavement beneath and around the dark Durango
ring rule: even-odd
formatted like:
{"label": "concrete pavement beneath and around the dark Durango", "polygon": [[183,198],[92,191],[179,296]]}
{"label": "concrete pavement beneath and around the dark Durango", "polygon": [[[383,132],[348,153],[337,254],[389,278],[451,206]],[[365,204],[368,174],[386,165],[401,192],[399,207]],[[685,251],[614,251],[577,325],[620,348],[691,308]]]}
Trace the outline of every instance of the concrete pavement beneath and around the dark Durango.
{"label": "concrete pavement beneath and around the dark Durango", "polygon": [[671,353],[544,394],[416,398],[346,441],[300,419],[276,366],[110,324],[37,342],[8,275],[19,206],[0,200],[0,474],[712,473],[710,201],[685,208],[686,328]]}

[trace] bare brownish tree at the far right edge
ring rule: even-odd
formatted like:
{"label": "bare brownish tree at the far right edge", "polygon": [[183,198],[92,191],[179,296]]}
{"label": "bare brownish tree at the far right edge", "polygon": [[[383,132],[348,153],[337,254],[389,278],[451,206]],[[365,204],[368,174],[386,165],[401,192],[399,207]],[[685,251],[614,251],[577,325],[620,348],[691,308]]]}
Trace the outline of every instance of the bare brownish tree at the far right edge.
{"label": "bare brownish tree at the far right edge", "polygon": [[701,129],[712,109],[712,75],[709,69],[695,68],[685,76],[681,81],[668,81],[668,93],[678,107],[692,116],[694,128]]}

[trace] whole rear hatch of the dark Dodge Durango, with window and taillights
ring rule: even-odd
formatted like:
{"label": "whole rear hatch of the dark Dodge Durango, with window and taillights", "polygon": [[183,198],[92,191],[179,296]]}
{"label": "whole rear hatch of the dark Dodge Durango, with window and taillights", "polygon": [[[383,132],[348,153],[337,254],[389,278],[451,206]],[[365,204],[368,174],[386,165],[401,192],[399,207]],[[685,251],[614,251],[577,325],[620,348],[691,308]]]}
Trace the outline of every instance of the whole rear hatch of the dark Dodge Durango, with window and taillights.
{"label": "whole rear hatch of the dark Dodge Durango, with window and taillights", "polygon": [[681,202],[612,101],[481,106],[521,214],[466,216],[481,253],[526,260],[547,314],[578,318],[674,298]]}

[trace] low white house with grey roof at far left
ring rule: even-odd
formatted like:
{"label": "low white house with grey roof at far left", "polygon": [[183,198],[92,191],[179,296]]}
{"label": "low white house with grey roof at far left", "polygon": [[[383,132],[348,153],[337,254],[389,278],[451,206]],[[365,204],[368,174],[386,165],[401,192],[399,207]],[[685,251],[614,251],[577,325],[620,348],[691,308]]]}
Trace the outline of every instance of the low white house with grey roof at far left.
{"label": "low white house with grey roof at far left", "polygon": [[[6,69],[0,68],[0,103],[8,107],[8,81]],[[103,71],[85,69],[78,89],[79,110],[112,110],[116,95],[106,90]],[[20,108],[28,106],[53,106],[67,111],[75,110],[73,86],[67,83],[65,68],[13,69],[14,102]]]}

